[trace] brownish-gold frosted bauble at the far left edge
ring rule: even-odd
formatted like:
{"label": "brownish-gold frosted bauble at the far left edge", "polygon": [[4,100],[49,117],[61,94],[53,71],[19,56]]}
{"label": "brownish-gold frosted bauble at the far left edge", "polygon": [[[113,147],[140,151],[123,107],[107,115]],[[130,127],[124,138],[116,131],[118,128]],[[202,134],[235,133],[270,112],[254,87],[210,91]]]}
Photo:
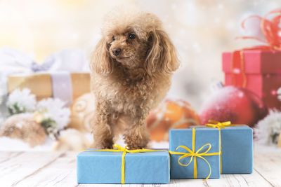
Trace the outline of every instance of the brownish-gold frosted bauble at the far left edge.
{"label": "brownish-gold frosted bauble at the far left edge", "polygon": [[31,147],[45,143],[44,128],[37,123],[32,113],[20,113],[9,117],[0,128],[0,136],[20,139]]}

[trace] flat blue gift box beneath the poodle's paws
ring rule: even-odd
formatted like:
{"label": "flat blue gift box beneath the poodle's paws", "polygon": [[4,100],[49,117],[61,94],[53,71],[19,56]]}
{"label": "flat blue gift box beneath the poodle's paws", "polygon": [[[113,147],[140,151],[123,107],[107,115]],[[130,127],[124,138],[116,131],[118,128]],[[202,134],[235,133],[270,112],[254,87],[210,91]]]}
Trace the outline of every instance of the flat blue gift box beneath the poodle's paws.
{"label": "flat blue gift box beneath the poodle's paws", "polygon": [[[77,155],[77,183],[122,183],[124,152],[87,151]],[[126,153],[124,183],[169,183],[170,158],[167,149]]]}

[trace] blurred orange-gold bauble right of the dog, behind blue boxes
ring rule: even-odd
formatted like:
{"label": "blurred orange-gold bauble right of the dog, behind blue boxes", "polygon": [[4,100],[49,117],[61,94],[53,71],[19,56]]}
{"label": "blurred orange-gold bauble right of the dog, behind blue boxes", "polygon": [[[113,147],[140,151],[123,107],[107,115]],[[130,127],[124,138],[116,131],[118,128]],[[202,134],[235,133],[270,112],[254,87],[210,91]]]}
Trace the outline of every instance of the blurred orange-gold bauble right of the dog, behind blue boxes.
{"label": "blurred orange-gold bauble right of the dog, behind blue boxes", "polygon": [[156,109],[150,111],[147,123],[151,140],[168,141],[170,129],[199,125],[200,120],[188,102],[167,99]]}

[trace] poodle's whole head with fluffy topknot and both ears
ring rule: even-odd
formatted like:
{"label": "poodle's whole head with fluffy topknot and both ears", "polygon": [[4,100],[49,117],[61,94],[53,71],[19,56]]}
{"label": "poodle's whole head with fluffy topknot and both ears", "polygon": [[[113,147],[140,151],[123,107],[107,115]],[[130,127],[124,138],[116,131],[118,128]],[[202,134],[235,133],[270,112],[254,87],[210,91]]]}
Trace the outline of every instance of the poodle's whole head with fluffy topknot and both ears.
{"label": "poodle's whole head with fluffy topknot and both ears", "polygon": [[103,38],[91,60],[98,74],[111,74],[117,65],[170,74],[178,68],[176,50],[162,29],[162,22],[151,13],[117,13],[105,21]]}

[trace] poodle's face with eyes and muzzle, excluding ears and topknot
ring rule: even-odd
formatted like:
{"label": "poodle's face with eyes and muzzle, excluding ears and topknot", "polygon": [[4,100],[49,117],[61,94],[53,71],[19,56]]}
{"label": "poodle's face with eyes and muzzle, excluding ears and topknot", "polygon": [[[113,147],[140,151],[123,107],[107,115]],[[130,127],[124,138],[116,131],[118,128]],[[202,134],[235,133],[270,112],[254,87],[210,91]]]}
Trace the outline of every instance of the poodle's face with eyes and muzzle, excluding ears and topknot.
{"label": "poodle's face with eyes and muzzle, excluding ears and topknot", "polygon": [[147,36],[148,33],[130,28],[120,29],[119,32],[111,31],[106,36],[108,53],[113,60],[129,69],[144,67],[150,46]]}

